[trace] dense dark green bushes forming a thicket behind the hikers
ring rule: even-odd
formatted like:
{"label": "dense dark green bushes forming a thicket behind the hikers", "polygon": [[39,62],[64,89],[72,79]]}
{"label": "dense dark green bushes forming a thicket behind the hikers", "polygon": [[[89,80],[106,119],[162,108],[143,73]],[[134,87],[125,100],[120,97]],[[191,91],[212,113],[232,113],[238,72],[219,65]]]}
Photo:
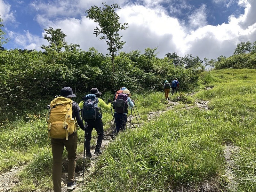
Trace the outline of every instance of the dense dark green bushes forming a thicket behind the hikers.
{"label": "dense dark green bushes forming a thicket behind the hikers", "polygon": [[115,72],[110,57],[94,48],[86,52],[71,44],[60,52],[51,47],[46,52],[0,51],[0,121],[14,113],[20,116],[24,111],[41,111],[65,86],[73,88],[80,98],[92,87],[103,93],[114,93],[122,86],[132,92],[161,91],[164,80],[171,82],[174,78],[179,79],[182,90],[196,85],[203,69],[200,62],[191,67],[174,66],[172,59],[159,59],[155,51],[120,52],[114,60]]}

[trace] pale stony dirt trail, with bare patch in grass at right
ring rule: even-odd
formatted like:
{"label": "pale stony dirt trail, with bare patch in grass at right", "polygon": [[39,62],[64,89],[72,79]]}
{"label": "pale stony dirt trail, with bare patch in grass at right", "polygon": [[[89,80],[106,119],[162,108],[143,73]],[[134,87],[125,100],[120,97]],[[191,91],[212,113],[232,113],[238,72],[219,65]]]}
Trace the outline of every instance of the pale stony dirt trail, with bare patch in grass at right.
{"label": "pale stony dirt trail, with bare patch in grass at right", "polygon": [[[192,94],[191,94],[192,95]],[[168,102],[167,107],[165,110],[162,111],[155,111],[155,112],[150,112],[148,114],[148,121],[155,119],[156,117],[158,117],[160,114],[171,110],[172,108],[174,108],[176,105],[179,105],[179,102]],[[194,107],[198,107],[201,110],[208,110],[208,101],[201,101],[201,100],[196,100],[195,105],[193,106],[187,106],[185,105],[185,109],[190,109],[190,108],[194,108]],[[134,119],[135,116],[132,116],[132,119]],[[138,117],[139,118],[139,117]],[[127,122],[127,127],[130,126],[130,122]],[[138,127],[141,126],[139,124],[132,124],[132,128],[134,127]],[[113,125],[112,125],[113,127]],[[103,141],[102,141],[102,145],[101,145],[101,149],[104,150],[108,144],[111,142],[111,137],[110,134],[112,132],[112,128],[109,129],[109,131],[104,135]],[[96,140],[96,139],[95,139]],[[89,164],[87,164],[88,166],[86,167],[85,170],[85,175],[84,175],[84,180],[86,180],[86,177],[89,176],[90,174],[92,174],[95,164],[97,163],[98,160],[98,156],[93,154],[94,149],[91,149],[91,153],[92,153],[92,158],[90,160],[86,160],[86,162]],[[232,153],[232,148],[227,147],[224,151],[224,155],[226,156],[225,159],[228,163],[228,165],[230,165],[229,167],[231,167],[231,161],[230,161],[230,156]],[[78,155],[78,158],[83,158],[83,154]],[[20,184],[20,180],[17,177],[17,173],[19,173],[20,171],[22,171],[24,169],[25,166],[22,167],[15,167],[13,168],[11,171],[9,172],[5,172],[2,173],[0,175],[0,192],[8,192],[10,191],[15,185],[19,185]],[[230,182],[233,182],[233,174],[231,171],[231,168],[227,168],[227,172],[226,175],[228,176]],[[79,191],[79,185],[82,185],[82,171],[76,172],[75,174],[76,180],[77,180],[77,188],[75,190],[73,190],[74,192]],[[67,178],[67,173],[63,173],[62,174],[62,191],[66,192],[67,191],[67,184],[66,184],[66,178]],[[41,189],[37,189],[36,192],[40,192],[42,191]]]}

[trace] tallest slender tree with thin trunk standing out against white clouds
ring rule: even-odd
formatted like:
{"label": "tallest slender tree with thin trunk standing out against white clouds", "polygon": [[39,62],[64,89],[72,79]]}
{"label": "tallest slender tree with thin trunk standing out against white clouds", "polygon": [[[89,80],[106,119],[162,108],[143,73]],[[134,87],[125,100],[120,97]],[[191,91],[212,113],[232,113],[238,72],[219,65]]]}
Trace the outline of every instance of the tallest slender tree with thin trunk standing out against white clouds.
{"label": "tallest slender tree with thin trunk standing out against white clouds", "polygon": [[120,17],[115,12],[116,9],[121,9],[117,4],[112,4],[111,6],[106,5],[102,2],[104,7],[92,6],[85,12],[88,14],[86,17],[94,20],[94,22],[99,23],[100,28],[96,27],[94,33],[96,36],[102,34],[99,37],[100,40],[104,39],[108,45],[109,55],[111,56],[112,62],[112,72],[115,71],[114,68],[114,56],[117,51],[120,51],[125,42],[121,41],[122,36],[119,36],[119,30],[125,30],[127,23],[121,25],[119,23]]}

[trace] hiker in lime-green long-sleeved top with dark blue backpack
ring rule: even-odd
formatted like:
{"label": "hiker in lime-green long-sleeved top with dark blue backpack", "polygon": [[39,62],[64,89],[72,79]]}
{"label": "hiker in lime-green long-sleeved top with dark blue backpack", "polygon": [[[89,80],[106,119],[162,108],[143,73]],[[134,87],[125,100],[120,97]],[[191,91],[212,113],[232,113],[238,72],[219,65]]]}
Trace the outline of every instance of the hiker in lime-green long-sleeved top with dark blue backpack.
{"label": "hiker in lime-green long-sleeved top with dark blue backpack", "polygon": [[[108,105],[99,97],[101,92],[97,88],[92,88],[90,90],[91,94],[86,95],[83,100],[79,103],[80,109],[82,109],[82,118],[87,122],[88,129],[86,133],[86,142],[85,142],[85,151],[86,158],[90,159],[92,154],[90,152],[91,148],[91,139],[92,139],[92,130],[93,128],[97,131],[98,140],[94,154],[99,155],[102,153],[100,150],[101,142],[104,136],[103,123],[102,123],[102,114],[101,108],[109,110],[111,107],[112,100],[108,99]],[[90,107],[92,106],[93,107]]]}

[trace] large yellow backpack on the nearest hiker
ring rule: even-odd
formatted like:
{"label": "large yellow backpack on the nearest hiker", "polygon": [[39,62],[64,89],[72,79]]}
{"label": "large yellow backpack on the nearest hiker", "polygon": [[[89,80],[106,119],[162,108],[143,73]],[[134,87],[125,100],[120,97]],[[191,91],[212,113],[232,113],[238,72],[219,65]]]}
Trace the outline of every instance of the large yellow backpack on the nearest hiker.
{"label": "large yellow backpack on the nearest hiker", "polygon": [[46,116],[48,138],[63,139],[76,132],[76,118],[72,118],[73,101],[65,97],[57,97],[51,101],[49,113]]}

